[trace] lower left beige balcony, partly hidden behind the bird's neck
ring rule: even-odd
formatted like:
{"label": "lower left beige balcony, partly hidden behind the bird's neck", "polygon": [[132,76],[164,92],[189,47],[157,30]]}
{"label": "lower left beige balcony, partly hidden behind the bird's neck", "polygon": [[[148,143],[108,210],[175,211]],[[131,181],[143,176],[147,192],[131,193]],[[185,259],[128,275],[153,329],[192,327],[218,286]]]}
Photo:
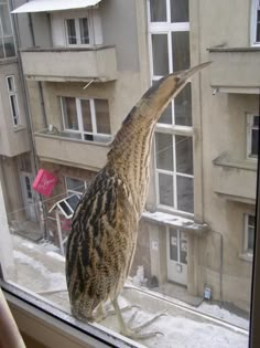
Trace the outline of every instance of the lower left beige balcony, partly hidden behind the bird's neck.
{"label": "lower left beige balcony, partly hidden behind the bird's neck", "polygon": [[36,155],[43,161],[58,162],[88,170],[99,170],[107,162],[109,143],[84,141],[69,134],[43,130],[34,134]]}

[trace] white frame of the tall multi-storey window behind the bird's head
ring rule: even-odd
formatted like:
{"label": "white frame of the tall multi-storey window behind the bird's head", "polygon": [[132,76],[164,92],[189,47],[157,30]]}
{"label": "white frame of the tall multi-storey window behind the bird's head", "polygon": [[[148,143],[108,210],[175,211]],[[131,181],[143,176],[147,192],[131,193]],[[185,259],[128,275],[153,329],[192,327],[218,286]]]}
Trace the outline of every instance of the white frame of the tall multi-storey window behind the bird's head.
{"label": "white frame of the tall multi-storey window behind the bird's head", "polygon": [[[153,67],[153,55],[152,55],[152,35],[153,34],[166,34],[167,35],[167,54],[169,54],[169,73],[173,73],[173,55],[172,55],[172,33],[173,32],[189,32],[189,22],[171,22],[171,0],[166,1],[166,21],[165,22],[151,22],[151,12],[150,12],[150,0],[148,0],[148,28],[149,28],[149,56],[150,56],[150,74],[151,74],[151,84],[153,81],[160,80],[161,75],[154,74]],[[171,103],[172,108],[172,124],[162,124],[158,123],[155,131],[171,134],[173,136],[173,164],[176,164],[176,150],[175,150],[175,139],[176,135],[192,137],[194,136],[193,127],[191,126],[178,126],[175,125],[175,114],[174,114],[174,101]],[[193,147],[194,148],[194,147]],[[156,194],[156,207],[162,210],[169,210],[170,212],[184,213],[187,217],[193,217],[194,213],[186,211],[181,211],[177,209],[177,190],[176,182],[177,176],[187,177],[194,179],[194,175],[178,173],[176,170],[163,170],[156,167],[156,148],[154,146],[154,164],[155,164],[155,194]],[[174,168],[176,166],[174,165]],[[160,192],[159,192],[159,175],[164,173],[172,176],[173,178],[173,207],[164,205],[160,203]]]}

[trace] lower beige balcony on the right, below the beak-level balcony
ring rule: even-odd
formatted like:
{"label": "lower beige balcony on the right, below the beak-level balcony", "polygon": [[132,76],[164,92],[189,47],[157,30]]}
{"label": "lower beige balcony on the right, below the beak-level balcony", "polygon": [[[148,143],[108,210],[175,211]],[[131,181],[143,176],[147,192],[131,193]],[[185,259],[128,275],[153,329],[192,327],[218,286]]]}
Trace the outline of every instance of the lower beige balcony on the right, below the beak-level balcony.
{"label": "lower beige balcony on the right, below the beak-level balcony", "polygon": [[216,193],[232,201],[256,203],[257,160],[232,160],[224,154],[213,164]]}

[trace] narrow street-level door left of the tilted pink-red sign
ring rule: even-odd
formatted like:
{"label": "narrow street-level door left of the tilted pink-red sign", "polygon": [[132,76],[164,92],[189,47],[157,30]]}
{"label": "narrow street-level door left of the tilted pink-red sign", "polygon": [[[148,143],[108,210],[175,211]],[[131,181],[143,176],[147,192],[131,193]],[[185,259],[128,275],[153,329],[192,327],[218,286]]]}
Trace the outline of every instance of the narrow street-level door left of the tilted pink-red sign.
{"label": "narrow street-level door left of the tilted pink-red sign", "polygon": [[23,202],[25,207],[25,215],[30,221],[37,221],[35,202],[34,202],[34,192],[32,190],[33,178],[32,175],[26,172],[21,172],[22,181],[22,192],[23,192]]}

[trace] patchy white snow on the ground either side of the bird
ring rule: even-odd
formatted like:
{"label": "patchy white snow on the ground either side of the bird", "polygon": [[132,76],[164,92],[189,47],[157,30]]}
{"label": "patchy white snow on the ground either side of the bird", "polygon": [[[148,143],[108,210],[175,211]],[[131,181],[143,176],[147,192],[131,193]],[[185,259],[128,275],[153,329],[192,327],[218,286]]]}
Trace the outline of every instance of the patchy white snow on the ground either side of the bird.
{"label": "patchy white snow on the ground either side of the bird", "polygon": [[[17,266],[18,284],[29,288],[31,292],[42,294],[48,300],[62,306],[64,310],[69,310],[68,297],[66,293],[66,282],[64,275],[64,257],[58,253],[58,249],[50,243],[34,244],[23,240],[21,236],[13,236],[13,256]],[[51,291],[59,289],[54,294]],[[50,293],[48,293],[50,292]],[[167,316],[159,318],[147,331],[160,331],[163,336],[141,340],[140,342],[151,348],[246,348],[248,347],[248,335],[245,330],[239,330],[228,325],[223,325],[220,320],[213,320],[210,317],[198,316],[191,306],[183,304],[178,306],[170,300],[160,299],[160,296],[141,292],[131,295],[134,289],[123,291],[120,304],[140,305],[134,319],[134,326],[141,325],[150,319],[154,313],[167,313]],[[136,291],[137,292],[137,291]],[[128,296],[130,294],[130,296]],[[151,294],[151,292],[150,292]],[[127,297],[126,297],[127,296]],[[180,302],[178,302],[180,303]],[[148,305],[149,304],[149,305]],[[184,308],[186,307],[186,309]],[[193,308],[194,309],[194,308]],[[149,312],[150,310],[150,312]],[[198,312],[216,316],[226,321],[232,321],[238,326],[248,327],[248,320],[219,308],[217,305],[203,303]],[[123,314],[124,318],[130,318],[134,309]],[[115,316],[109,316],[101,321],[101,325],[118,330],[118,321]]]}

